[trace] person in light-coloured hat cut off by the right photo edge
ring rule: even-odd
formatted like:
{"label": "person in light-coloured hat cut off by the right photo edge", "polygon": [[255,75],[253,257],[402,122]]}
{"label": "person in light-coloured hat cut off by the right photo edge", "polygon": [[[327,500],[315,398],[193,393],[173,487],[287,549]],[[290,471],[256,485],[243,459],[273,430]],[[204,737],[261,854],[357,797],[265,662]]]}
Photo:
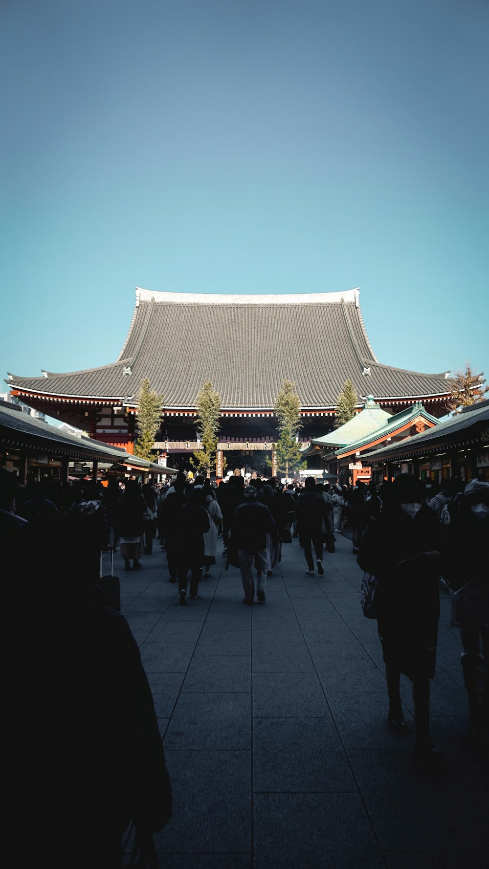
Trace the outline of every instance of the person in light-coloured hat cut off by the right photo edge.
{"label": "person in light-coloured hat cut off by the right photo edge", "polygon": [[[431,507],[431,504],[430,504]],[[448,530],[449,529],[449,530]],[[446,526],[443,572],[460,627],[470,713],[469,747],[489,749],[489,483],[471,480]]]}

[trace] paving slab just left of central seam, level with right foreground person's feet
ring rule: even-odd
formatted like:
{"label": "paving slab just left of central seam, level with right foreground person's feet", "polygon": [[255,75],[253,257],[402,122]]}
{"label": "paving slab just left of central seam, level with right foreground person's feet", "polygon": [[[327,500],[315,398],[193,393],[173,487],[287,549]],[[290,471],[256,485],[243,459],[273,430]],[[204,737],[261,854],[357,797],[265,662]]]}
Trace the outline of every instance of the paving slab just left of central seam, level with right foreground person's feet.
{"label": "paving slab just left of central seam, level with right foreground person's feet", "polygon": [[181,693],[165,749],[249,750],[250,716],[249,693]]}

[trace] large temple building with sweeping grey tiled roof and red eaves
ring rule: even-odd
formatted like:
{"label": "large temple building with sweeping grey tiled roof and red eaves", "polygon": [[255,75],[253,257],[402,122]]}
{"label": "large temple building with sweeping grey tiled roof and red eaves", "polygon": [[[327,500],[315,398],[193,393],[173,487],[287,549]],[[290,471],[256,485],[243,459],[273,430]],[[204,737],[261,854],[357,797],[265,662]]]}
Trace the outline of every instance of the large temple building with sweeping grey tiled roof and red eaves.
{"label": "large temple building with sweeping grey tiled roof and red eaves", "polygon": [[[301,401],[301,444],[334,427],[349,378],[359,395],[398,413],[422,402],[439,417],[448,373],[421,374],[378,362],[360,311],[360,291],[297,295],[160,293],[137,288],[129,333],[116,362],[40,377],[9,375],[13,395],[98,441],[129,452],[137,437],[137,393],[144,377],[163,396],[157,448],[188,467],[197,448],[196,396],[204,381],[221,398],[219,449],[254,456],[258,467],[276,439],[274,403],[284,380]],[[236,452],[238,454],[236,454]],[[233,461],[233,457],[231,457]],[[250,460],[251,461],[251,460]],[[250,463],[248,461],[248,463]]]}

